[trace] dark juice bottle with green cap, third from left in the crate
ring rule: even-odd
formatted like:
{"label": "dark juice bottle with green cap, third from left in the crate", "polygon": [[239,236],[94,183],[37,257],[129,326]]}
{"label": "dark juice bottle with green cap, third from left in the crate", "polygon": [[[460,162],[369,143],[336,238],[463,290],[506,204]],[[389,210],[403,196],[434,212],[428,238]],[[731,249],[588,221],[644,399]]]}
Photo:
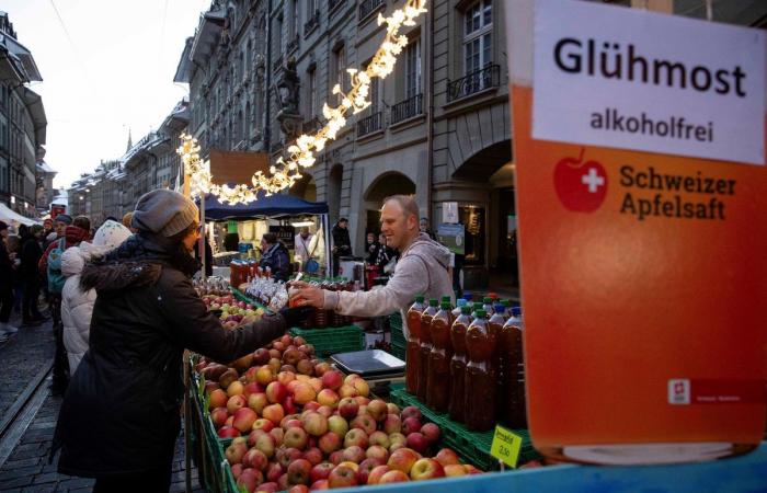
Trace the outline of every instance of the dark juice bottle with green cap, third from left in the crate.
{"label": "dark juice bottle with green cap, third from left in the crate", "polygon": [[432,319],[432,353],[428,356],[428,382],[426,405],[438,413],[447,412],[450,404],[450,359],[453,343],[450,325],[453,313],[449,301],[439,303],[439,311]]}

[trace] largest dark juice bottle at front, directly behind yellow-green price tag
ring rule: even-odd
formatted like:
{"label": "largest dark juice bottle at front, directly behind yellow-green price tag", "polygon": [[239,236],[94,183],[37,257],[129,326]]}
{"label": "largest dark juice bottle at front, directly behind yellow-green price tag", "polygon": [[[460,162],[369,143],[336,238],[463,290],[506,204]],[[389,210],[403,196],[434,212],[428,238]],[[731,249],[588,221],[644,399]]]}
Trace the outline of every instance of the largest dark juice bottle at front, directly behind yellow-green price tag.
{"label": "largest dark juice bottle at front, directly behind yellow-green price tag", "polygon": [[466,348],[469,363],[466,365],[466,427],[485,432],[495,424],[495,374],[493,371],[493,340],[488,330],[486,313],[480,309],[477,318],[466,331]]}

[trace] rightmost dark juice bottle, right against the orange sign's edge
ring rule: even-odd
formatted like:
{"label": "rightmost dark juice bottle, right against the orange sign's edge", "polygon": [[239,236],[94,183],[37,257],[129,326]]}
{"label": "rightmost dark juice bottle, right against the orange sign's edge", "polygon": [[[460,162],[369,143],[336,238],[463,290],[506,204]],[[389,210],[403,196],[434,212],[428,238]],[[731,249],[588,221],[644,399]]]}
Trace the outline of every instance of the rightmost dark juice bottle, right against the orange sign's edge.
{"label": "rightmost dark juice bottle, right against the orange sign's edge", "polygon": [[527,426],[525,413],[525,360],[522,352],[522,334],[525,326],[522,322],[519,307],[512,308],[512,317],[503,325],[500,346],[506,355],[506,371],[502,380],[504,392],[500,409],[501,420],[514,428]]}

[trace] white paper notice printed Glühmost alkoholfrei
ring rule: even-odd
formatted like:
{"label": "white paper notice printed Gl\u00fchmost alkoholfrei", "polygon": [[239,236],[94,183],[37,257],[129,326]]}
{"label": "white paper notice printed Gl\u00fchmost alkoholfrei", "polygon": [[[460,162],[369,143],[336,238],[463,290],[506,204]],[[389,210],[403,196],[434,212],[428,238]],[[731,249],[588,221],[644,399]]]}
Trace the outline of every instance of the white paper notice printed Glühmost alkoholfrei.
{"label": "white paper notice printed Gl\u00fchmost alkoholfrei", "polygon": [[765,32],[563,3],[536,4],[534,138],[765,164]]}

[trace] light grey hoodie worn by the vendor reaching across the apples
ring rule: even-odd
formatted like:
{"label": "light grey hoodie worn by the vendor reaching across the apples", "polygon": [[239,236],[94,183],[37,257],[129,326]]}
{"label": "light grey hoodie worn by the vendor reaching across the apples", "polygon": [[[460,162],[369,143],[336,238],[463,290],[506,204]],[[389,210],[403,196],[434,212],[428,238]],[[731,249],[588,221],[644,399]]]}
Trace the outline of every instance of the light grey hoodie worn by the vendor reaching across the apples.
{"label": "light grey hoodie worn by the vendor reaching across the apples", "polygon": [[325,291],[324,307],[347,316],[378,317],[398,310],[404,313],[416,295],[426,299],[449,295],[453,299],[449,265],[450,251],[428,234],[420,233],[402,252],[394,275],[385,287],[370,291]]}

